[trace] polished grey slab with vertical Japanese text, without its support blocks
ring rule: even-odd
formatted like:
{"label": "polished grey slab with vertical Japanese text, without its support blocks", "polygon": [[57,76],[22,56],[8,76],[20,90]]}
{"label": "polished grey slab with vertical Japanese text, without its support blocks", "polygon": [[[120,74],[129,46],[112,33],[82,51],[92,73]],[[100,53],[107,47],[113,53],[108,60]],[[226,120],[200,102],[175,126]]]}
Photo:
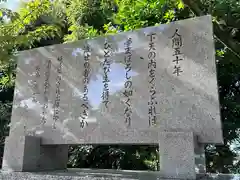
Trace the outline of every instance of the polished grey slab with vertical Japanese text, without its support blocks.
{"label": "polished grey slab with vertical Japanese text, without its support blocks", "polygon": [[[182,36],[179,64],[171,37],[176,29]],[[149,37],[156,33],[156,117],[149,127]],[[131,126],[124,118],[125,50],[124,42],[132,38]],[[109,105],[101,103],[105,38],[112,46],[109,72]],[[81,128],[83,103],[83,47],[88,43],[90,80],[88,84],[88,126]],[[34,135],[42,144],[152,144],[158,143],[159,132],[193,132],[200,143],[222,143],[218,87],[214,57],[213,32],[210,16],[163,24],[114,36],[82,40],[69,44],[41,47],[23,51],[18,56],[17,78],[11,118],[10,136]],[[62,56],[60,84],[59,75]],[[47,61],[51,60],[50,71]],[[49,64],[48,64],[49,65]],[[173,74],[180,65],[182,73]],[[45,82],[48,82],[46,85]],[[48,90],[46,90],[46,88]],[[60,93],[58,117],[56,91]],[[45,96],[45,95],[46,96]],[[33,100],[33,99],[36,99]],[[45,110],[44,110],[45,107]],[[44,122],[45,117],[46,122]],[[86,125],[86,124],[85,124]],[[53,126],[56,128],[53,129]]]}

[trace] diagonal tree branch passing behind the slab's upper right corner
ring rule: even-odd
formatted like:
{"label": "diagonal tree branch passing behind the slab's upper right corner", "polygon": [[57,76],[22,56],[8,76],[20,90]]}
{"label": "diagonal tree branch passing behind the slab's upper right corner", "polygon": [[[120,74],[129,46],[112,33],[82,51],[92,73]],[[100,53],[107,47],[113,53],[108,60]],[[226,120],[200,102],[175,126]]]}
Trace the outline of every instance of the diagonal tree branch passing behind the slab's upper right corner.
{"label": "diagonal tree branch passing behind the slab's upper right corner", "polygon": [[[198,0],[183,0],[183,3],[187,5],[196,16],[205,15],[200,8],[203,5]],[[216,38],[240,58],[240,44],[232,39],[229,33],[225,31],[218,22],[213,22],[213,30]]]}

